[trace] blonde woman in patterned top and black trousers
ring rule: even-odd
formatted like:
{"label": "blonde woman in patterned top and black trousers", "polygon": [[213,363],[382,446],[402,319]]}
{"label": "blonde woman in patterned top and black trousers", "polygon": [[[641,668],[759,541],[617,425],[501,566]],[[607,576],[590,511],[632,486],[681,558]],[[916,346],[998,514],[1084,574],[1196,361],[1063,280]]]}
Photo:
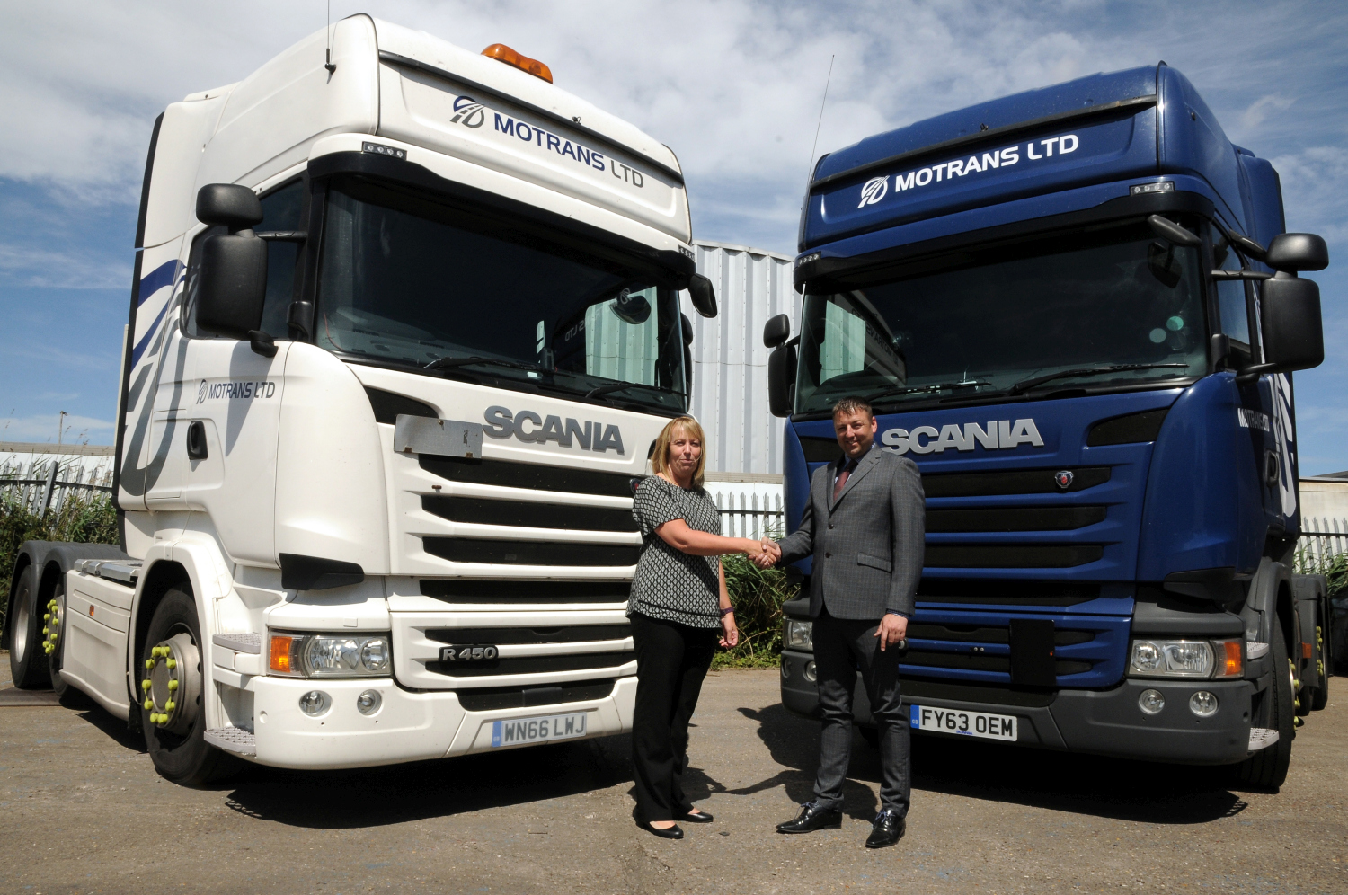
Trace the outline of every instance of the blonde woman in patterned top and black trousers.
{"label": "blonde woman in patterned top and black trousers", "polygon": [[702,489],[705,466],[702,427],[692,416],[673,419],[655,441],[655,474],[632,501],[644,541],[627,608],[638,674],[636,824],[662,838],[683,838],[678,821],[712,822],[683,795],[683,771],[687,722],[716,646],[740,642],[718,557],[763,551],[758,541],[720,535],[720,512]]}

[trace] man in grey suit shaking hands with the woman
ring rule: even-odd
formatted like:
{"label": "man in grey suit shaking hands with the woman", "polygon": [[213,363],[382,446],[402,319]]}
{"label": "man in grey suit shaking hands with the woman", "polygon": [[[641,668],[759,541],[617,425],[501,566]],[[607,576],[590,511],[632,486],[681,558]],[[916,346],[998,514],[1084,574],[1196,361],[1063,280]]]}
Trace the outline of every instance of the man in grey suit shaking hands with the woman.
{"label": "man in grey suit shaking hands with the woman", "polygon": [[842,457],[814,470],[801,527],[760,565],[814,557],[810,617],[818,670],[820,771],[814,801],[779,833],[842,826],[857,671],[880,728],[880,813],[867,848],[894,845],[909,813],[909,725],[899,705],[899,650],[922,574],[925,497],[917,464],[882,452],[875,414],[857,398],[833,406]]}

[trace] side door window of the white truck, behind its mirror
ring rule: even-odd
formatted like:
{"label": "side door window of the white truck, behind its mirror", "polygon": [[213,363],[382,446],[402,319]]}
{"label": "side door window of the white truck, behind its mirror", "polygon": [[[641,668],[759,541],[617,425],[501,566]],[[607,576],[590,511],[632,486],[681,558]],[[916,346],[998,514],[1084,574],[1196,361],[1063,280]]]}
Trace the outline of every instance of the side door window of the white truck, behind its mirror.
{"label": "side door window of the white truck, behind its mirror", "polygon": [[[305,204],[303,181],[291,181],[262,198],[262,224],[256,230],[298,230]],[[193,338],[212,338],[197,328],[197,292],[201,274],[201,247],[212,236],[225,233],[222,226],[212,226],[197,235],[187,255],[187,286],[185,290],[182,328]],[[263,302],[262,329],[275,338],[288,336],[286,315],[295,291],[295,268],[299,261],[299,243],[271,241],[267,244],[267,298]]]}

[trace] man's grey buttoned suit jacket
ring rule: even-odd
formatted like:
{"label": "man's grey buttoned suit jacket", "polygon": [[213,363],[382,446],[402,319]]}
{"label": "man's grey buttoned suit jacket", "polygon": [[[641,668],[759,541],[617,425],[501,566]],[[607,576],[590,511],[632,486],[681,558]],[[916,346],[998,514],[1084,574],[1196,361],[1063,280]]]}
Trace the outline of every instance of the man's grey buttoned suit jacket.
{"label": "man's grey buttoned suit jacket", "polygon": [[810,477],[801,527],[783,538],[782,563],[814,555],[810,617],[879,621],[890,609],[913,616],[926,546],[922,476],[907,457],[872,445],[833,501],[845,457]]}

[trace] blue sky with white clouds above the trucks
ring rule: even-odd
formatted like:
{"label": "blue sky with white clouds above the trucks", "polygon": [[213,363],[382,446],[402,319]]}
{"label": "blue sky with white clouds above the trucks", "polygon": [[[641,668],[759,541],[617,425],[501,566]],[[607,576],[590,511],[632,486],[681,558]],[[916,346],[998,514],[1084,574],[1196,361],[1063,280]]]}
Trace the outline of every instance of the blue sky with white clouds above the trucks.
{"label": "blue sky with white clouds above the trucks", "polygon": [[[696,239],[783,253],[817,155],[1163,59],[1278,168],[1289,230],[1329,243],[1329,270],[1312,275],[1326,360],[1295,375],[1298,441],[1302,474],[1348,469],[1348,4],[332,3],[334,20],[355,12],[542,59],[558,86],[675,151]],[[325,0],[0,0],[0,441],[55,442],[66,411],[62,439],[112,443],[154,119],[325,16]]]}

